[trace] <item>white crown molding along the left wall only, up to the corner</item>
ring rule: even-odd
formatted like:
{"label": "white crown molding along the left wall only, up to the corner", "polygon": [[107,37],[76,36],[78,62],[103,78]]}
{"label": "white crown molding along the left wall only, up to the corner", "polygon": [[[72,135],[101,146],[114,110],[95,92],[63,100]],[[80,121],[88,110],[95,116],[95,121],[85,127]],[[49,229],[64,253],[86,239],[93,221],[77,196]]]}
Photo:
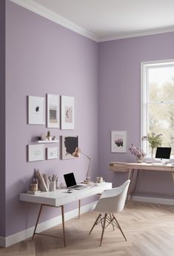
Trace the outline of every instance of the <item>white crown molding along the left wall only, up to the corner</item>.
{"label": "white crown molding along the left wall only, up to the corner", "polygon": [[40,16],[50,19],[52,22],[56,22],[58,25],[63,26],[64,28],[68,28],[71,31],[81,34],[89,39],[92,39],[95,42],[98,42],[98,36],[91,33],[90,31],[81,28],[73,22],[70,22],[68,19],[54,13],[52,10],[43,7],[41,4],[36,3],[33,0],[10,0],[15,4],[19,4],[21,7],[26,8],[27,10],[32,11],[33,13],[37,13]]}

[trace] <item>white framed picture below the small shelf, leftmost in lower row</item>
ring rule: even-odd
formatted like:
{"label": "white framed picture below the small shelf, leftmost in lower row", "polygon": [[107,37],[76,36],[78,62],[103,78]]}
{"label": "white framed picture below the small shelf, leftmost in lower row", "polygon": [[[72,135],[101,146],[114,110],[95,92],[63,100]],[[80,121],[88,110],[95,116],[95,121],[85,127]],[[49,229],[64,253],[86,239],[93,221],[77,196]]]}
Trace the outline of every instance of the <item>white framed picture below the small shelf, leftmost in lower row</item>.
{"label": "white framed picture below the small shelf, leftmost in lower row", "polygon": [[44,144],[28,145],[28,161],[44,160]]}

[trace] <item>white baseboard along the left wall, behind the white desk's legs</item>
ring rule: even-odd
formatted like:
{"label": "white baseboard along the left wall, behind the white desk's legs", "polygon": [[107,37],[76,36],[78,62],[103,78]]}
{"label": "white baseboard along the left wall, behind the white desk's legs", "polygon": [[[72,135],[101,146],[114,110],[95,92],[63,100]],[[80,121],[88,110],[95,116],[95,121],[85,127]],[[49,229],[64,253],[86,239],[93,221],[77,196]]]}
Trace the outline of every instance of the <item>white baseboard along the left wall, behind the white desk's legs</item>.
{"label": "white baseboard along the left wall, behind the white desk's legs", "polygon": [[[87,211],[93,211],[95,208],[96,202],[92,202],[88,205],[81,206],[81,214],[86,213]],[[73,211],[68,211],[64,214],[64,220],[70,220],[74,217],[78,216],[78,208]],[[37,227],[37,232],[42,232],[47,230],[48,228],[52,228],[55,225],[61,224],[61,215],[58,217],[54,217],[53,219],[47,220],[44,223],[40,223]],[[22,240],[25,240],[29,237],[32,237],[34,231],[34,227],[27,228],[24,231],[18,232],[16,234],[12,234],[9,237],[0,237],[0,246],[8,247],[12,246],[15,243],[19,243]]]}

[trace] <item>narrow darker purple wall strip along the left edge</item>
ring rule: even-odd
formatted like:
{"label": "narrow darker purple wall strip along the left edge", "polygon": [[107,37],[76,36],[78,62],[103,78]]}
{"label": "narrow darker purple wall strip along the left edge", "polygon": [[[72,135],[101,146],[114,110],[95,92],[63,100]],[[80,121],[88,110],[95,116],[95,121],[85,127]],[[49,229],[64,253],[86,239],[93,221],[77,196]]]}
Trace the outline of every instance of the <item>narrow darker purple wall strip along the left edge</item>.
{"label": "narrow darker purple wall strip along the left edge", "polygon": [[0,237],[5,236],[5,0],[0,1]]}

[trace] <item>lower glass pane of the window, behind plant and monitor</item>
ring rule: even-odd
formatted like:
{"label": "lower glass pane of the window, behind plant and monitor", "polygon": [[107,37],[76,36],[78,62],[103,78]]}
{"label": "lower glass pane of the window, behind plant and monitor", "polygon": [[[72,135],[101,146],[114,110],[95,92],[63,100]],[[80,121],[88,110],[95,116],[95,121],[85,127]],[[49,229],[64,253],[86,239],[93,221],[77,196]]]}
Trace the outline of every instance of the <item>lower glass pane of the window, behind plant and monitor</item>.
{"label": "lower glass pane of the window, behind plant and monitor", "polygon": [[147,109],[149,132],[161,133],[162,147],[172,147],[171,154],[174,155],[174,104],[148,103]]}

